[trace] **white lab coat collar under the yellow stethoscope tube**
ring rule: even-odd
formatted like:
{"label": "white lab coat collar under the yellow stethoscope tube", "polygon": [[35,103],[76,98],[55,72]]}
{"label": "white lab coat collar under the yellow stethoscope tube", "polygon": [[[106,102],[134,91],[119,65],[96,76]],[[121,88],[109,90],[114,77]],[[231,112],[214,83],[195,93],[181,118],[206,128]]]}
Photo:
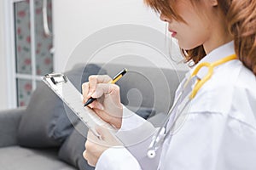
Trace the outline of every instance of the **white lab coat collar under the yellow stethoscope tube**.
{"label": "white lab coat collar under the yellow stethoscope tube", "polygon": [[[189,72],[190,75],[195,70],[196,66],[201,64],[202,62],[208,62],[213,63],[217,61],[218,59],[223,59],[224,57],[227,57],[231,54],[235,54],[235,48],[234,48],[234,41],[225,43],[224,45],[213,49],[211,53],[207,54],[203,59],[199,61],[198,64],[196,64]],[[208,69],[206,67],[201,68],[201,71],[198,72],[197,77],[203,78],[207,75]]]}

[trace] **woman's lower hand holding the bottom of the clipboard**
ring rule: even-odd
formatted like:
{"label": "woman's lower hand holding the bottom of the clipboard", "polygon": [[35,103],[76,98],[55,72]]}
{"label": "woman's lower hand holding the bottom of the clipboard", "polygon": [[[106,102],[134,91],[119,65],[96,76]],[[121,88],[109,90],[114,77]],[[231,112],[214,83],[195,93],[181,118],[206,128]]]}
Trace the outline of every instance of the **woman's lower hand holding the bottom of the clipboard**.
{"label": "woman's lower hand holding the bottom of the clipboard", "polygon": [[113,146],[122,145],[119,140],[108,131],[108,129],[97,127],[96,131],[101,135],[101,139],[98,139],[89,130],[83,153],[84,159],[87,160],[88,164],[92,167],[96,166],[98,159],[102,156],[102,153],[105,150],[108,150],[108,148]]}

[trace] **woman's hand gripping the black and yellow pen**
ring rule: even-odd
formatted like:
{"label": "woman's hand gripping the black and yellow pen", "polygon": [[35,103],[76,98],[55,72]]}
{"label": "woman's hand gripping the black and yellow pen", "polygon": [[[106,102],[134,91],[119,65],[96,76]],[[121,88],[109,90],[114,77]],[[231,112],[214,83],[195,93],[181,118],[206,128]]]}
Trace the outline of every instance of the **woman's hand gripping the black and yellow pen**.
{"label": "woman's hand gripping the black and yellow pen", "polygon": [[90,105],[92,110],[105,122],[120,128],[122,124],[123,105],[120,102],[119,86],[111,84],[112,79],[108,75],[90,76],[89,82],[82,85],[84,103],[96,98]]}

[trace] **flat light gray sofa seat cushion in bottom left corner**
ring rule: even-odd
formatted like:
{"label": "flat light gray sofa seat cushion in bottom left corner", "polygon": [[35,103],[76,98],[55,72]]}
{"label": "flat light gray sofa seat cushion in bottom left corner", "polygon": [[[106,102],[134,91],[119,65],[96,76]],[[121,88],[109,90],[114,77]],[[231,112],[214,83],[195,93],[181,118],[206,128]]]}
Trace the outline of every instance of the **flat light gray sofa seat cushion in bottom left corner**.
{"label": "flat light gray sofa seat cushion in bottom left corner", "polygon": [[56,150],[32,150],[20,146],[0,148],[1,170],[75,170],[58,160]]}

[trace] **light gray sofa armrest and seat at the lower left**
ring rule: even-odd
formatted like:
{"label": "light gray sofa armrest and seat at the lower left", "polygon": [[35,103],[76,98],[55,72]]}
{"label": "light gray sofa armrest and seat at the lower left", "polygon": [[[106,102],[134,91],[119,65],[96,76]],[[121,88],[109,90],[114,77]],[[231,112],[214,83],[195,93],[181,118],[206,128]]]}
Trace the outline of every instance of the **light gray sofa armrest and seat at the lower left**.
{"label": "light gray sofa armrest and seat at the lower left", "polygon": [[19,122],[26,108],[0,112],[0,169],[2,170],[73,170],[58,159],[57,149],[21,147],[17,141]]}

